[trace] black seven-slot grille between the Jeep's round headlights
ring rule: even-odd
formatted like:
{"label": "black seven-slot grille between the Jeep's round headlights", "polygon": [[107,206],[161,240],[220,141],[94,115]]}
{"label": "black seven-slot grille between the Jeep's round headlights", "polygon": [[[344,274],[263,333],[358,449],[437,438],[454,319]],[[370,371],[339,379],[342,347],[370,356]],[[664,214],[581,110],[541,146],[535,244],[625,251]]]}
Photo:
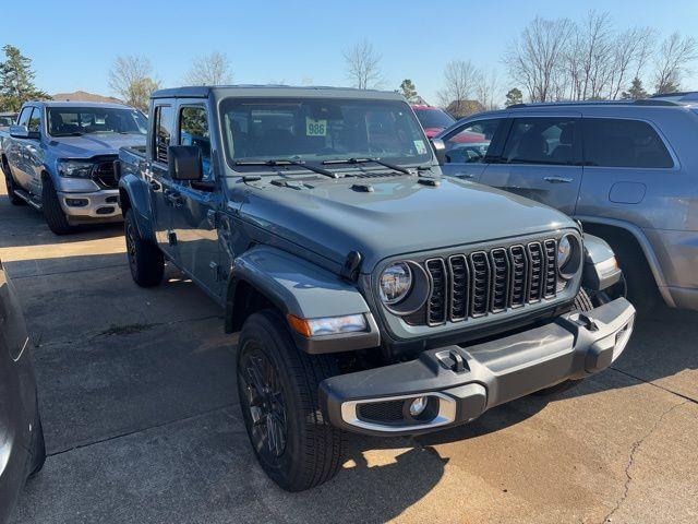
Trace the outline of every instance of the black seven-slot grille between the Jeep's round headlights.
{"label": "black seven-slot grille between the Jeep's round headlights", "polygon": [[458,322],[554,298],[556,259],[554,239],[430,259],[424,263],[432,282],[426,323]]}

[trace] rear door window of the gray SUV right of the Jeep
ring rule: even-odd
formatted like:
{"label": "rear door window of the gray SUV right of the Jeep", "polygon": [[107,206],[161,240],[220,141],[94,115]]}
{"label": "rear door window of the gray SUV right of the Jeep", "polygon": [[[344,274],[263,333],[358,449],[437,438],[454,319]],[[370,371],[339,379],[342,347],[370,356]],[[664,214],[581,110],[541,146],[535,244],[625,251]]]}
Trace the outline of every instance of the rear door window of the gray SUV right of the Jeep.
{"label": "rear door window of the gray SUV right of the Jeep", "polygon": [[575,118],[517,118],[504,147],[506,164],[575,165],[579,154]]}

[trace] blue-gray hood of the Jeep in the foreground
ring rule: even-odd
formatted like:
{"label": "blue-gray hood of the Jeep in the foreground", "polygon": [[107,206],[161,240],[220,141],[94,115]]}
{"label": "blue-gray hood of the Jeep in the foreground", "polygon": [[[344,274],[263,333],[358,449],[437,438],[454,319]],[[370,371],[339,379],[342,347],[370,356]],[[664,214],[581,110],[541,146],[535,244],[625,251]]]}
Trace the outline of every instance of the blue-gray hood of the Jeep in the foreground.
{"label": "blue-gray hood of the Jeep in the foreground", "polygon": [[477,183],[443,178],[429,187],[400,176],[370,180],[373,192],[351,188],[368,181],[290,189],[262,180],[246,191],[241,216],[338,263],[360,251],[363,272],[397,254],[577,227],[551,207]]}

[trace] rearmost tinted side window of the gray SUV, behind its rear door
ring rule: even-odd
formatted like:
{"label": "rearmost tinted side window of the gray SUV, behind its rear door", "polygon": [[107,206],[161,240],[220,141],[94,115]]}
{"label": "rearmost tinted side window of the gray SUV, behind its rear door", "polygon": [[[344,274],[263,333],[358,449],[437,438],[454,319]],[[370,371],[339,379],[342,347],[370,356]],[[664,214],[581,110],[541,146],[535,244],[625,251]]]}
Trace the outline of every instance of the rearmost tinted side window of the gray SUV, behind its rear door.
{"label": "rearmost tinted side window of the gray SUV, behind its rear door", "polygon": [[674,167],[657,131],[640,120],[586,118],[585,165],[603,167]]}

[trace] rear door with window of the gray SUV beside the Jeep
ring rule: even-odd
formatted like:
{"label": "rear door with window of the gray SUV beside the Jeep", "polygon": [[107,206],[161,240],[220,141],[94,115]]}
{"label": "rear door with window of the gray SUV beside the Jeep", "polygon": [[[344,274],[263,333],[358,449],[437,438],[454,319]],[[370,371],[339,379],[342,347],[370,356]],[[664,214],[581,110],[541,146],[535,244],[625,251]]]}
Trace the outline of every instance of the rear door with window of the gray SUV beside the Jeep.
{"label": "rear door with window of the gray SUV beside the Jeep", "polygon": [[481,182],[573,215],[582,177],[580,128],[579,114],[513,118]]}

